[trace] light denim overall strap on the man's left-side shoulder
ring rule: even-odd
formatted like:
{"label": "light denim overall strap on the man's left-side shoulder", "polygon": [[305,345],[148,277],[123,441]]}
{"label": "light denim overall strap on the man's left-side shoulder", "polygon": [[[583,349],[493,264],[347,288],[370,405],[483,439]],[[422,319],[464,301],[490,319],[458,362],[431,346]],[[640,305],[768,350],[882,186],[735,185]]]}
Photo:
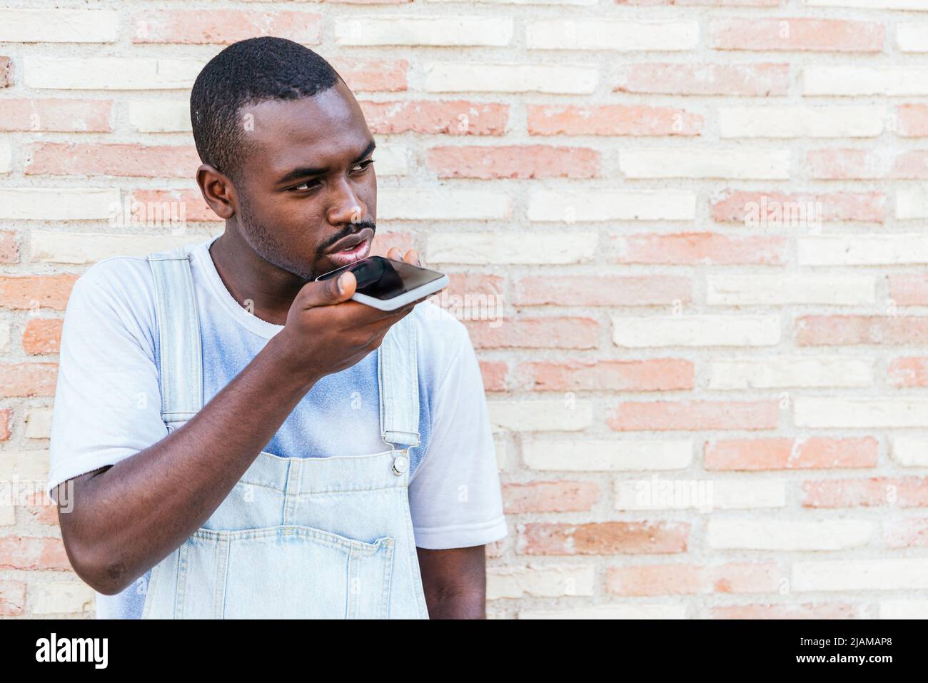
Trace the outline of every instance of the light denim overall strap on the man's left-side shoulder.
{"label": "light denim overall strap on the man's left-side shoulder", "polygon": [[148,254],[155,281],[161,419],[172,431],[202,407],[200,316],[187,248]]}

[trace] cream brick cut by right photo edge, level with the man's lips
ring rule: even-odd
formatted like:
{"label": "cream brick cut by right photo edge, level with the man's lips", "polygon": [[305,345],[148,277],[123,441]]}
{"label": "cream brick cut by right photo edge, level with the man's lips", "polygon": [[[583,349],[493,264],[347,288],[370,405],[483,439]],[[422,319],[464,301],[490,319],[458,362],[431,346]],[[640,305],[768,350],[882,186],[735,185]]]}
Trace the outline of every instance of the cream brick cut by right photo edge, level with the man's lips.
{"label": "cream brick cut by right photo edge, level with the man's lips", "polygon": [[928,264],[928,235],[818,235],[797,239],[800,265]]}

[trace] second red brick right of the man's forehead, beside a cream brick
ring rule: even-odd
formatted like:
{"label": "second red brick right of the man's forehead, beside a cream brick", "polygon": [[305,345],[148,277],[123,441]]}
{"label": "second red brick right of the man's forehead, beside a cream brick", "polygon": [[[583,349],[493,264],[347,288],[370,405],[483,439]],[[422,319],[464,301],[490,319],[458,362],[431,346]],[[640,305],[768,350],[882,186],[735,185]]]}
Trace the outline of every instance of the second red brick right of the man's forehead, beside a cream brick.
{"label": "second red brick right of the man's forehead, beside a cream brick", "polygon": [[674,107],[530,104],[529,135],[700,135],[702,115]]}

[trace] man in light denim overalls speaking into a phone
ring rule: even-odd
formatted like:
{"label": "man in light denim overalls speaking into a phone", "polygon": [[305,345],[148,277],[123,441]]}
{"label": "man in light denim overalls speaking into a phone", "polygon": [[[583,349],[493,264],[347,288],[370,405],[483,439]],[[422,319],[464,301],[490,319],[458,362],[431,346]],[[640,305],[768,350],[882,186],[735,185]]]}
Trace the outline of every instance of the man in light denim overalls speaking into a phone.
{"label": "man in light denim overalls speaking into a phone", "polygon": [[483,618],[507,529],[466,329],[314,281],[376,230],[352,93],[256,38],[206,65],[190,113],[225,232],[95,264],[65,315],[49,491],[73,486],[61,535],[97,615]]}

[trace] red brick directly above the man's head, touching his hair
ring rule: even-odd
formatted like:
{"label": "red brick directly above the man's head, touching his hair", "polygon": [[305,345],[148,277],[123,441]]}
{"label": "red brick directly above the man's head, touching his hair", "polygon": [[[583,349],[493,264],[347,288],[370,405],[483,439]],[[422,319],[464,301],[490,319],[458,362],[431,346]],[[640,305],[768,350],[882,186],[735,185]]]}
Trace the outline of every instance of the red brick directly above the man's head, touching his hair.
{"label": "red brick directly above the man's head, touching his hair", "polygon": [[322,18],[309,12],[261,12],[225,8],[140,12],[132,19],[133,43],[220,44],[262,35],[282,35],[316,45]]}

